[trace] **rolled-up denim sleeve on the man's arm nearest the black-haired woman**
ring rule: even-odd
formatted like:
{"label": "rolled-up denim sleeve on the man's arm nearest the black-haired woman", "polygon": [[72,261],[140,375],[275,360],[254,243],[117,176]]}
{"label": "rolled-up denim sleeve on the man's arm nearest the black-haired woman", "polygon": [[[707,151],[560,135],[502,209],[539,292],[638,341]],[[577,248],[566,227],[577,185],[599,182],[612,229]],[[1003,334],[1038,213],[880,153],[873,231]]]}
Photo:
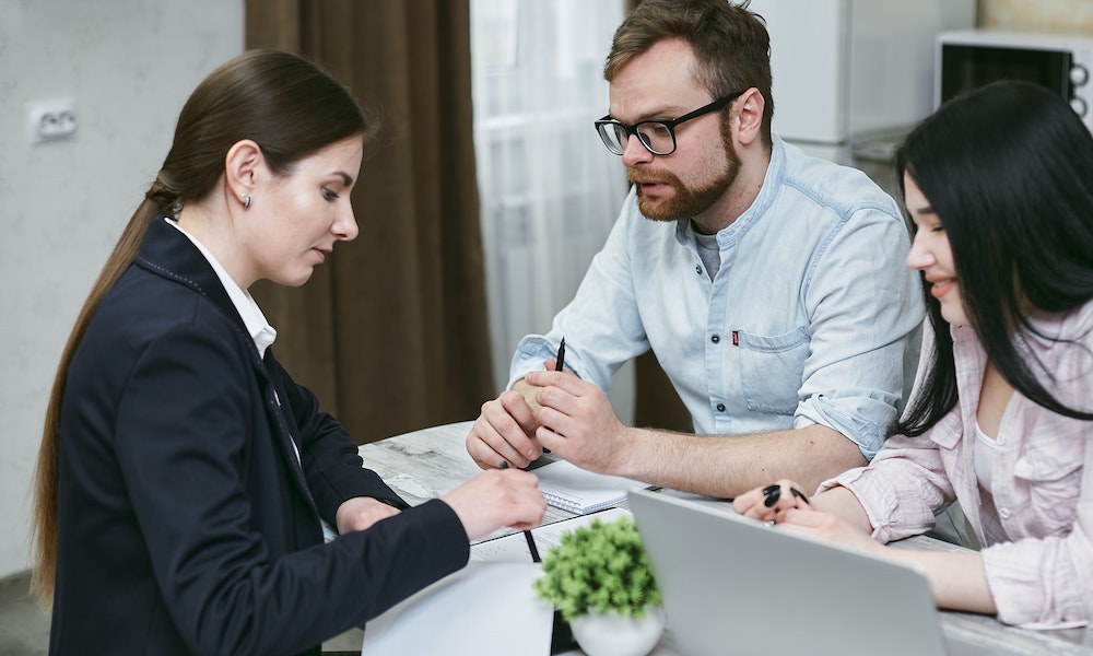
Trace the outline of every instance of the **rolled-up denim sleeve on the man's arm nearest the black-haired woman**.
{"label": "rolled-up denim sleeve on the man's arm nearest the black-haired woman", "polygon": [[811,353],[794,425],[834,429],[866,459],[884,445],[918,359],[925,311],[908,246],[891,214],[859,210],[824,242],[804,294]]}

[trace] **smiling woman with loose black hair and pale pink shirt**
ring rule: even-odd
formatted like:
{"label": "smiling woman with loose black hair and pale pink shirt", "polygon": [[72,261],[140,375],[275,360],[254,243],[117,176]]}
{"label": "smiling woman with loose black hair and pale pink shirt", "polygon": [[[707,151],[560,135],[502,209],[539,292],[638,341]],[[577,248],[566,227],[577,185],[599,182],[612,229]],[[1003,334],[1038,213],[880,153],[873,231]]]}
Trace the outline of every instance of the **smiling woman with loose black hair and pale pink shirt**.
{"label": "smiling woman with loose black hair and pale pink shirt", "polygon": [[[929,308],[910,405],[873,461],[808,502],[736,508],[925,570],[939,606],[1027,628],[1093,618],[1093,137],[1057,94],[996,82],[896,157]],[[795,493],[796,492],[796,493]],[[979,551],[884,543],[959,501]]]}

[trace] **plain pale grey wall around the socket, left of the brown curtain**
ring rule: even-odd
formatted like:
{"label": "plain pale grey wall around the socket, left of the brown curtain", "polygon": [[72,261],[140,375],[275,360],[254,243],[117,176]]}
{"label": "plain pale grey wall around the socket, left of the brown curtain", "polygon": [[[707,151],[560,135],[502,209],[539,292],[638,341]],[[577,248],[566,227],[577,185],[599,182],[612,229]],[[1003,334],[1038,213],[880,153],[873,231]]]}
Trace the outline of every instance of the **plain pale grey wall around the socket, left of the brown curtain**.
{"label": "plain pale grey wall around the socket, left of the brown curtain", "polygon": [[[0,0],[0,577],[31,563],[42,421],[75,314],[193,86],[243,51],[245,0]],[[32,144],[26,104],[79,127]]]}

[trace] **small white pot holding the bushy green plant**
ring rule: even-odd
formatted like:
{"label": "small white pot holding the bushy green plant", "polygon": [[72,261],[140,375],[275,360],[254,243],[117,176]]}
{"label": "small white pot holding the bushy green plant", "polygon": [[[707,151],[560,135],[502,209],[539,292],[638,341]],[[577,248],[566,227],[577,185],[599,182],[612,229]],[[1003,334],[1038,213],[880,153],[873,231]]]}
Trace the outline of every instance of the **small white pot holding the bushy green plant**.
{"label": "small white pot holding the bushy green plant", "polygon": [[590,611],[569,622],[573,637],[588,656],[646,656],[665,632],[665,609],[646,608],[644,618]]}

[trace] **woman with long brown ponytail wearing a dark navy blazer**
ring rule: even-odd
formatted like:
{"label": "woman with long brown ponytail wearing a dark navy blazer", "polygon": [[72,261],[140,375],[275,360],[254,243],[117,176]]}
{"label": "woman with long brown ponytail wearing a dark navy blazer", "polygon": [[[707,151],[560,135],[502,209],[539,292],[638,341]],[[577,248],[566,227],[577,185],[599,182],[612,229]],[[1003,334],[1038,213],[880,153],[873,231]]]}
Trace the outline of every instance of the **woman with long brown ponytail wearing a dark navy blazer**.
{"label": "woman with long brown ponytail wearing a dark navy blazer", "polygon": [[303,284],[356,236],[371,129],[341,84],[272,50],[187,101],[47,410],[34,585],[51,654],[318,653],[462,567],[470,539],[542,519],[515,469],[408,507],[269,348],[247,289]]}

